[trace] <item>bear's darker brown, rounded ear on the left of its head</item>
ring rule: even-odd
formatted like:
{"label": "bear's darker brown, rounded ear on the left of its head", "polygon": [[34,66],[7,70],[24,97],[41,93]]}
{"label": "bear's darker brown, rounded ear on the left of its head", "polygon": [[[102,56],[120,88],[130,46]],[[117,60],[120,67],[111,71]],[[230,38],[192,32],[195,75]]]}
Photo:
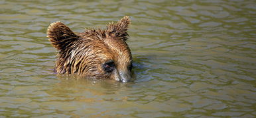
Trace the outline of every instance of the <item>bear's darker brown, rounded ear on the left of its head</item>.
{"label": "bear's darker brown, rounded ear on the left of its head", "polygon": [[68,26],[62,22],[53,22],[47,29],[48,38],[57,50],[64,50],[72,45],[72,42],[79,39]]}

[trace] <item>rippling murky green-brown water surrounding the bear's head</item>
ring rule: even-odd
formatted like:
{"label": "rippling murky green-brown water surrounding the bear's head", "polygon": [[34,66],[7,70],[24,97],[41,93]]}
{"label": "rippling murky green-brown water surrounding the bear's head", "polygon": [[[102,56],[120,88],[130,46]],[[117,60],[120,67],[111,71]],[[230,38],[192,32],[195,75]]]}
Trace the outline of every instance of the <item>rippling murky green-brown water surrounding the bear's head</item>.
{"label": "rippling murky green-brown water surrounding the bear's head", "polygon": [[[256,2],[0,1],[3,117],[256,117]],[[131,17],[134,82],[52,73],[51,22]]]}

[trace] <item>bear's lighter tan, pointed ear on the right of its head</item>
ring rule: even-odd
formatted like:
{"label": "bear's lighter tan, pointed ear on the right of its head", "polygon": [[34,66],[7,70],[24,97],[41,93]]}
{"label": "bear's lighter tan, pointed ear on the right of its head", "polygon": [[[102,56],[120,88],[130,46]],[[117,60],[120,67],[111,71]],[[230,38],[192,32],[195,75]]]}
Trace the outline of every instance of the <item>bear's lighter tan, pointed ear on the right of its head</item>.
{"label": "bear's lighter tan, pointed ear on the right of its head", "polygon": [[114,34],[115,36],[121,38],[123,41],[127,40],[127,29],[128,29],[128,25],[130,24],[130,19],[129,16],[123,16],[123,18],[121,18],[121,20],[119,20],[116,23],[109,23],[109,25],[107,25],[107,30],[106,33],[111,36],[111,34]]}

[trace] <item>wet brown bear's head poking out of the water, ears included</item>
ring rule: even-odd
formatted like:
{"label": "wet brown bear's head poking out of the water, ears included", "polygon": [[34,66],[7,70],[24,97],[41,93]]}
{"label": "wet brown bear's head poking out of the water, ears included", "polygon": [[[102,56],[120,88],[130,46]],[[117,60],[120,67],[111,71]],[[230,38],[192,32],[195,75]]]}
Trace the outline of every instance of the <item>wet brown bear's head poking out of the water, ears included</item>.
{"label": "wet brown bear's head poking out of the water, ears included", "polygon": [[109,23],[105,30],[88,29],[75,34],[62,22],[50,24],[50,42],[58,51],[55,73],[83,78],[110,78],[127,82],[133,78],[133,59],[126,44],[129,16]]}

